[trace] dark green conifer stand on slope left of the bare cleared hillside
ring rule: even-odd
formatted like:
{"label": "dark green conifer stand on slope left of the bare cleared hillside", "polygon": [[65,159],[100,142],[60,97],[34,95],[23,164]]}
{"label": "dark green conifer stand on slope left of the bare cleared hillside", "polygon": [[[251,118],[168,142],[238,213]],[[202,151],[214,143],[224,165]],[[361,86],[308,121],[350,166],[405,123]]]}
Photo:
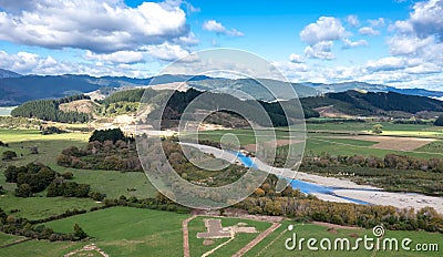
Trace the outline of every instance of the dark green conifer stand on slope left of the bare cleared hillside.
{"label": "dark green conifer stand on slope left of the bare cleared hillside", "polygon": [[[43,121],[54,121],[64,123],[85,123],[90,120],[90,115],[80,112],[63,112],[59,109],[61,103],[71,101],[70,97],[82,99],[82,95],[69,96],[60,100],[35,100],[21,104],[11,111],[14,117],[34,117]],[[76,99],[75,99],[76,100]]]}

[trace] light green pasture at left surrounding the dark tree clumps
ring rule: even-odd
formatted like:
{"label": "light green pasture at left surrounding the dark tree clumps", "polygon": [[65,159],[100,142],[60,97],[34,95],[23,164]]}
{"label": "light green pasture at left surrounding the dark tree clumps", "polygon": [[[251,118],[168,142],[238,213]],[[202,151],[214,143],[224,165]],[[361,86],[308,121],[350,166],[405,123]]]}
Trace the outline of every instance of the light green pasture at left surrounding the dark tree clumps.
{"label": "light green pasture at left surrounding the dark tree clumps", "polygon": [[[109,197],[119,197],[120,195],[155,196],[156,189],[150,184],[144,173],[74,169],[56,165],[56,156],[61,154],[63,148],[71,145],[83,147],[89,137],[90,134],[83,133],[41,135],[39,131],[34,130],[0,130],[0,141],[9,143],[8,148],[0,147],[0,153],[11,150],[19,155],[14,161],[0,161],[0,168],[9,165],[19,166],[30,162],[41,162],[59,173],[72,172],[74,182],[90,184],[93,191],[105,193]],[[38,146],[39,154],[30,154],[30,146]],[[23,154],[23,156],[20,156],[20,154]],[[0,174],[0,185],[10,191],[11,194],[16,187],[14,184],[6,183],[2,174]],[[44,195],[44,193],[40,195]],[[0,198],[0,206],[1,204],[2,199]]]}

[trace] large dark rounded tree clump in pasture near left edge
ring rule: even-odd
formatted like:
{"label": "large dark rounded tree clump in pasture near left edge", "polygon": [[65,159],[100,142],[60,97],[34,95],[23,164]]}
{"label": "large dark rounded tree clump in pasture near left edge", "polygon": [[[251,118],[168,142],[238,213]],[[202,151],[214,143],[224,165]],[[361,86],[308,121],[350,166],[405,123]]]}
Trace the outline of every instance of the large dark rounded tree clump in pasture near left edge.
{"label": "large dark rounded tree clump in pasture near left edge", "polygon": [[54,171],[40,163],[29,163],[20,167],[11,165],[4,171],[6,181],[17,183],[16,195],[21,197],[44,191],[56,176]]}

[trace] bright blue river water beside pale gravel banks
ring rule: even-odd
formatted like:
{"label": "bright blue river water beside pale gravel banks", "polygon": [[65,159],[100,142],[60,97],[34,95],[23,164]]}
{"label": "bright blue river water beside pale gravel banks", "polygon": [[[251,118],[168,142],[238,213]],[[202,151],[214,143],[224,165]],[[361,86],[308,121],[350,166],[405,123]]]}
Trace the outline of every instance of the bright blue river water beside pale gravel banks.
{"label": "bright blue river water beside pale gravel banks", "polygon": [[[246,167],[257,168],[256,164],[254,163],[254,161],[250,157],[241,154],[240,152],[237,152],[237,157],[241,161],[241,163]],[[286,179],[289,179],[289,178],[286,178]],[[338,198],[347,199],[347,201],[350,201],[356,204],[369,205],[369,203],[367,203],[367,202],[353,199],[353,198],[346,197],[346,196],[336,195],[336,193],[333,193],[334,189],[346,189],[346,188],[334,188],[334,187],[329,187],[329,186],[321,186],[321,185],[317,185],[313,183],[303,182],[303,181],[299,181],[299,179],[290,179],[290,185],[293,189],[299,189],[301,193],[305,193],[305,194],[320,193],[320,194],[331,195],[331,196],[334,196]]]}

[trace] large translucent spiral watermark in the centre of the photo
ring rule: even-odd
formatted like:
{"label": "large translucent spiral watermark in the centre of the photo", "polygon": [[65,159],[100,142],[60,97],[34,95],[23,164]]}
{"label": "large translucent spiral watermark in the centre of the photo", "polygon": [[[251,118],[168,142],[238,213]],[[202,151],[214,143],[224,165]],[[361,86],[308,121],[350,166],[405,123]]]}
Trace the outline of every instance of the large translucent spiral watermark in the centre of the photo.
{"label": "large translucent spiral watermark in the centre of the photo", "polygon": [[[305,114],[295,88],[270,62],[253,53],[215,49],[192,53],[166,66],[151,85],[164,84],[171,74],[192,74],[187,81],[168,83],[158,94],[145,91],[137,112],[136,146],[143,169],[151,183],[165,196],[193,208],[217,209],[236,204],[259,187],[269,173],[280,177],[276,191],[289,185],[284,177],[293,177],[305,150]],[[217,78],[205,81],[208,76]],[[223,79],[222,79],[223,78]],[[227,80],[230,79],[230,80]],[[202,91],[177,91],[189,88]],[[186,102],[188,99],[190,102]],[[289,100],[289,101],[279,101]],[[182,106],[186,102],[186,106]],[[277,110],[270,115],[267,107]],[[255,144],[254,165],[234,183],[209,187],[190,183],[183,171],[175,171],[169,162],[162,136],[177,133],[183,155],[194,167],[203,172],[222,171],[233,164],[241,148],[236,134],[220,136],[220,148],[202,145],[200,126],[213,113],[234,113],[247,121]],[[275,112],[274,112],[275,113]],[[177,121],[178,117],[178,121]],[[289,124],[285,168],[271,166],[278,146],[275,124]],[[173,128],[171,128],[173,127]],[[219,131],[223,133],[223,131]],[[214,157],[224,162],[216,162]],[[284,162],[281,162],[284,161]],[[268,165],[270,164],[270,165]]]}

